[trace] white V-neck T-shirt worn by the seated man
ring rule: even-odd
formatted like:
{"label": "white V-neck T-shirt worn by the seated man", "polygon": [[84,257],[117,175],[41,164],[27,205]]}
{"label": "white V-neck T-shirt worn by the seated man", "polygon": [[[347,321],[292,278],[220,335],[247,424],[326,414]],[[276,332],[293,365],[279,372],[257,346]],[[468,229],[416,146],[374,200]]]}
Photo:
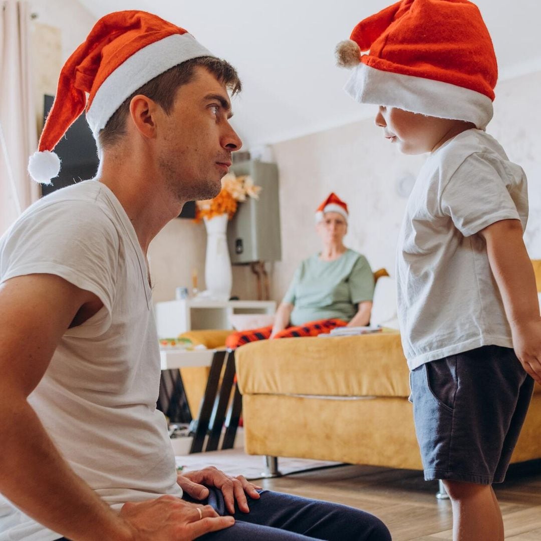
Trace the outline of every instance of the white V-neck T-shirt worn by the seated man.
{"label": "white V-neck T-shirt worn by the seated man", "polygon": [[[61,276],[103,302],[65,332],[29,397],[58,450],[115,509],[182,496],[166,419],[156,410],[160,353],[146,259],[109,188],[90,180],[58,190],[0,239],[0,283],[33,273]],[[60,537],[0,496],[1,540]]]}

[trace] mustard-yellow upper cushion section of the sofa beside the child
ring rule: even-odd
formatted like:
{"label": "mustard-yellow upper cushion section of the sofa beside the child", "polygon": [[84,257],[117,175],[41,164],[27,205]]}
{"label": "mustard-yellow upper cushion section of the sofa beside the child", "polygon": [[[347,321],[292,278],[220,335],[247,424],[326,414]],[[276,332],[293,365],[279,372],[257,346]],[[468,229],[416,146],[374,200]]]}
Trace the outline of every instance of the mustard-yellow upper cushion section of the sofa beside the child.
{"label": "mustard-yellow upper cushion section of the sofa beside the child", "polygon": [[281,338],[235,352],[242,394],[408,397],[409,371],[398,332]]}

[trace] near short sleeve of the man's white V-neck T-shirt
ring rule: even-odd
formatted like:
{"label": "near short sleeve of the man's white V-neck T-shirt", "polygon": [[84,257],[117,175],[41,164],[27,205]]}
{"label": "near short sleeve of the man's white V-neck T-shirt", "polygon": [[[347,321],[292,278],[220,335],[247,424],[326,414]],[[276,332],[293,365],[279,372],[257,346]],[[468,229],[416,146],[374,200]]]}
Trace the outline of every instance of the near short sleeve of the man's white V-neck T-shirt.
{"label": "near short sleeve of the man's white V-neck T-shirt", "polygon": [[56,202],[23,216],[6,234],[0,245],[0,283],[54,274],[94,293],[105,311],[77,328],[77,334],[95,336],[110,325],[119,245],[114,224],[96,203]]}

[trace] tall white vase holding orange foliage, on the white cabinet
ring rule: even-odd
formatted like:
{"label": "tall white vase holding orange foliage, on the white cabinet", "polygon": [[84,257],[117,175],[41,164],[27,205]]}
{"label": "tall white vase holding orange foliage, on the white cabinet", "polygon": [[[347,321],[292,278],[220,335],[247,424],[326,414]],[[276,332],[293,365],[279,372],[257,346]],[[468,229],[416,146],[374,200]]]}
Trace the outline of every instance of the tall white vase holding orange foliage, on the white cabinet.
{"label": "tall white vase holding orange foliage, on the white cabinet", "polygon": [[204,263],[204,280],[208,296],[212,299],[228,301],[233,287],[231,260],[227,247],[227,214],[204,218],[207,229],[207,253]]}

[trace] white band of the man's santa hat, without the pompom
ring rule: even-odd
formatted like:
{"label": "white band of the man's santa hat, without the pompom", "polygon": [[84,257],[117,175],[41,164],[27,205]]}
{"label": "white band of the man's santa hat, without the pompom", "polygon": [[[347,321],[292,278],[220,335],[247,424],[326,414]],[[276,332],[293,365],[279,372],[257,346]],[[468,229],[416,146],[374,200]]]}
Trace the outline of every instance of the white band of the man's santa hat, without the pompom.
{"label": "white band of the man's santa hat, without the pompom", "polygon": [[131,55],[103,81],[87,111],[94,138],[97,140],[109,118],[143,84],[177,64],[200,56],[215,55],[188,33],[160,39]]}

